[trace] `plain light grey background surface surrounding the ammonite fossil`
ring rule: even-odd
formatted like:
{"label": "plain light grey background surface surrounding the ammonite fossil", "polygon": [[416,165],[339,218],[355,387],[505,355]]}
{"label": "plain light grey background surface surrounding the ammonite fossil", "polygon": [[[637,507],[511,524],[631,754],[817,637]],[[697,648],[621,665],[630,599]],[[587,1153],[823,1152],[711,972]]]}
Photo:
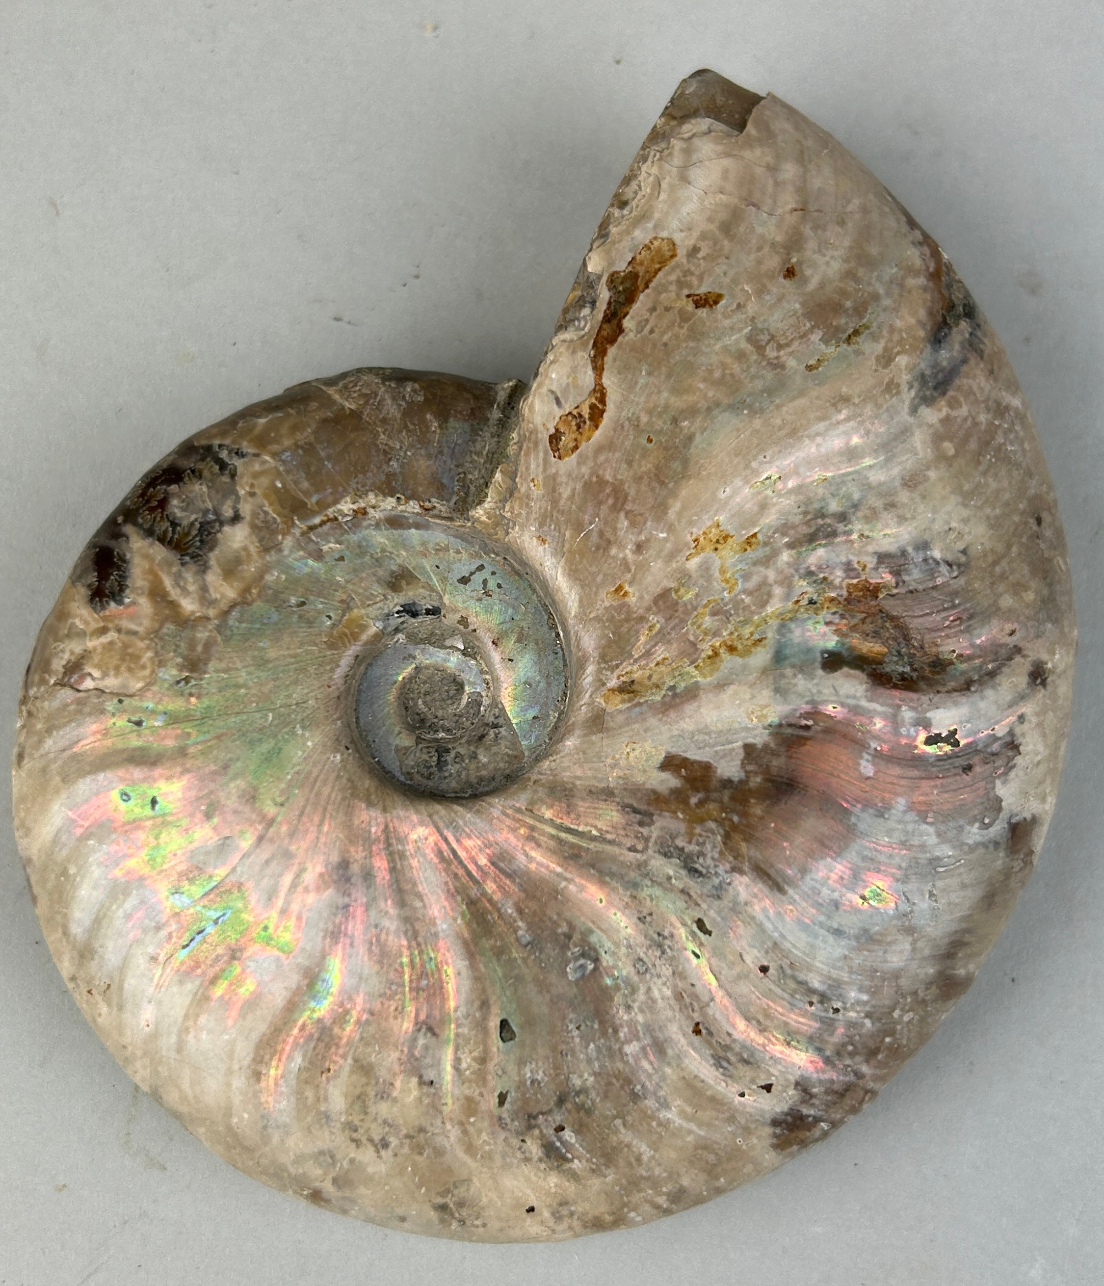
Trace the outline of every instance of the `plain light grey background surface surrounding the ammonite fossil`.
{"label": "plain light grey background surface surrounding the ammonite fossil", "polygon": [[835,134],[978,297],[1054,475],[1081,653],[1040,868],[930,1044],[769,1178],[558,1246],[385,1232],[208,1155],[78,1015],[5,815],[0,1283],[1104,1280],[1101,37],[1076,0],[4,0],[5,760],[37,625],[126,487],[313,376],[528,378],[699,66]]}

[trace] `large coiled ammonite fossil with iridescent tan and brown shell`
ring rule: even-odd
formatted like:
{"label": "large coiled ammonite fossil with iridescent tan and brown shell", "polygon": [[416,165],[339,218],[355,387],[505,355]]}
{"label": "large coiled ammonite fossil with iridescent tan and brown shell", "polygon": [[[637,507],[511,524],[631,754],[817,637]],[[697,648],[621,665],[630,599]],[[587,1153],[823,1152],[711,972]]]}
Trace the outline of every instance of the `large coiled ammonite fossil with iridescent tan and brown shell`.
{"label": "large coiled ammonite fossil with iridescent tan and brown shell", "polygon": [[351,370],[81,556],[19,841],[127,1073],[266,1183],[556,1238],[769,1170],[969,985],[1074,626],[1007,360],[827,134],[712,72],[526,390]]}

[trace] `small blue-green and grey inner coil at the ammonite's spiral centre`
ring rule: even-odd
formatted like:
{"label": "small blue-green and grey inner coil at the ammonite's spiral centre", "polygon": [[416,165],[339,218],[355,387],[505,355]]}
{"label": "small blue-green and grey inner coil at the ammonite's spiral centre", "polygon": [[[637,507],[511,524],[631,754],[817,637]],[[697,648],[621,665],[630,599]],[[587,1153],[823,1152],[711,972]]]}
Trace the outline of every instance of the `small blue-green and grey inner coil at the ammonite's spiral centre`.
{"label": "small blue-green and grey inner coil at the ammonite's spiral centre", "polygon": [[[453,527],[381,531],[378,638],[355,671],[362,754],[409,790],[445,797],[508,784],[547,750],[562,718],[560,626],[533,577]],[[394,567],[390,563],[394,562]]]}

